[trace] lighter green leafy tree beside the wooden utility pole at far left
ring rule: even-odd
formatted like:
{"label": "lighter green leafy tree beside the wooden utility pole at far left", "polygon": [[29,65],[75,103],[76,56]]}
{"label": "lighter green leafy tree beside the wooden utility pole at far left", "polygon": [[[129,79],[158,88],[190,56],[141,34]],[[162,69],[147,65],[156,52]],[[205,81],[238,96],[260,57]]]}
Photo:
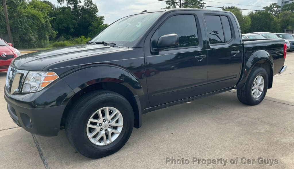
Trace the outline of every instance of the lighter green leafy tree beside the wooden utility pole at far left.
{"label": "lighter green leafy tree beside the wooden utility pole at far left", "polygon": [[[54,38],[56,32],[50,24],[48,13],[51,7],[39,0],[7,1],[9,22],[18,48],[43,47]],[[1,10],[1,9],[0,9]],[[1,15],[2,11],[0,12]],[[0,17],[2,18],[2,17]],[[6,30],[0,29],[0,35],[6,35]]]}

